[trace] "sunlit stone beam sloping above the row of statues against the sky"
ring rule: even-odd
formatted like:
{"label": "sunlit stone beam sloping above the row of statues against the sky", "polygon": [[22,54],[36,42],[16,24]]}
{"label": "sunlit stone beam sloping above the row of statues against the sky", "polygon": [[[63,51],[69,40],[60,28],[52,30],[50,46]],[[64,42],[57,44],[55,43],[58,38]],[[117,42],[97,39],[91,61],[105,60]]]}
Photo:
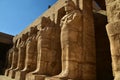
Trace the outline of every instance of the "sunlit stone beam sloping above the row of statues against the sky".
{"label": "sunlit stone beam sloping above the row of statues against the sky", "polygon": [[[18,34],[17,36],[14,37],[14,39],[17,39],[19,37],[21,37],[22,34],[28,32],[30,30],[30,27],[34,27],[36,25],[40,24],[41,21],[41,17],[45,16],[45,17],[50,17],[51,20],[54,20],[55,23],[59,22],[57,21],[58,18],[58,11],[63,8],[63,4],[64,4],[65,0],[59,0],[57,1],[53,6],[51,6],[51,8],[49,8],[47,11],[45,11],[41,16],[39,16],[34,22],[32,22],[26,29],[24,29],[20,34]],[[79,6],[81,9],[83,8],[83,5],[81,2],[83,2],[82,0],[73,0],[75,2],[75,4],[77,6]],[[77,3],[77,1],[79,2],[79,4]]]}

